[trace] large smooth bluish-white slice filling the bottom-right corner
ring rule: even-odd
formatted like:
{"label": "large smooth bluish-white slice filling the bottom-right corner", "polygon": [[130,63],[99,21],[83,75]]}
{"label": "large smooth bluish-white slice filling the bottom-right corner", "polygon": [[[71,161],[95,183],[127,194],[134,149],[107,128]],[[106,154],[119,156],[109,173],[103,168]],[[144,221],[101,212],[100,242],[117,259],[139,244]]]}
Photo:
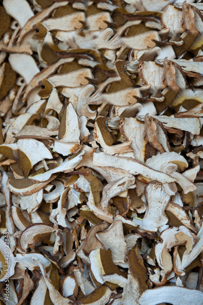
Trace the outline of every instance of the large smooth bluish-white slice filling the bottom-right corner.
{"label": "large smooth bluish-white slice filling the bottom-right corner", "polygon": [[143,292],[139,303],[140,305],[156,305],[164,302],[173,305],[199,305],[202,302],[202,297],[203,293],[195,289],[192,290],[179,286],[163,286]]}

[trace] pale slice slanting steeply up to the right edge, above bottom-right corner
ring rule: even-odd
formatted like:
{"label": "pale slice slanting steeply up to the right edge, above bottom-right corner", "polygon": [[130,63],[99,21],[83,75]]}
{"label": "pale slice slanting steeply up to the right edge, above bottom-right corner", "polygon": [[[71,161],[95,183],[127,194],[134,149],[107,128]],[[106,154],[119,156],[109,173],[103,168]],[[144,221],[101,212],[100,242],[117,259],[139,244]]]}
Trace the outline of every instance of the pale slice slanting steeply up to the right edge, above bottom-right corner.
{"label": "pale slice slanting steeply up to the right edge, above bottom-right corner", "polygon": [[187,267],[202,251],[203,249],[203,226],[201,226],[201,230],[197,235],[197,242],[193,246],[192,251],[190,253],[185,252],[182,258],[182,267]]}

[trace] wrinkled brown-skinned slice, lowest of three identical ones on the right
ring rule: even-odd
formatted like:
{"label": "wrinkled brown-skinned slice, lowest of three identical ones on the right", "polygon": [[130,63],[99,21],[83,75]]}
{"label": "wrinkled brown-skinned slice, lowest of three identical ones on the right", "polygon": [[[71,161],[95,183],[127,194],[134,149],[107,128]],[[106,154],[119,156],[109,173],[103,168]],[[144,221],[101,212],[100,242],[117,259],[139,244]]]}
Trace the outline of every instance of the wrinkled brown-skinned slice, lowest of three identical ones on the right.
{"label": "wrinkled brown-skinned slice, lowest of three identical ones on the right", "polygon": [[147,114],[145,115],[145,133],[149,143],[160,153],[171,151],[163,124]]}

